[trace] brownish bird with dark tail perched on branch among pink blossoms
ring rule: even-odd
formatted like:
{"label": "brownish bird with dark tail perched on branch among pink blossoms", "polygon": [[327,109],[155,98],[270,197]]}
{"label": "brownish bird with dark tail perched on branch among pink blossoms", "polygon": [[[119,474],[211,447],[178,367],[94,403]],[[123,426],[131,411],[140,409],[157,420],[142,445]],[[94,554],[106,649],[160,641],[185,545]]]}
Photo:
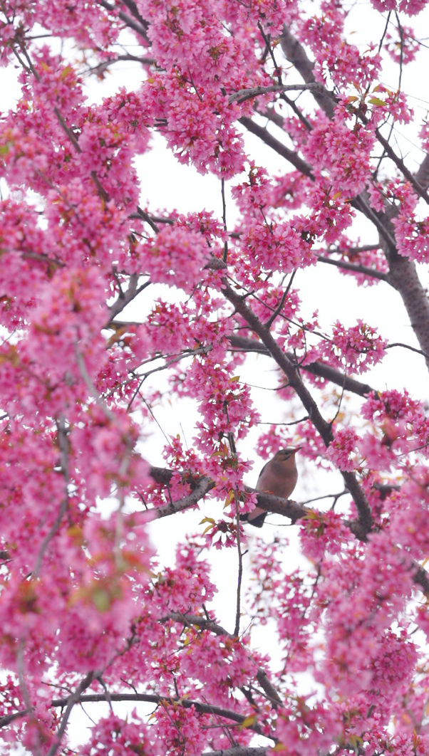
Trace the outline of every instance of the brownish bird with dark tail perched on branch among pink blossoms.
{"label": "brownish bird with dark tail perched on branch among pink blossoms", "polygon": [[[260,471],[256,491],[266,491],[267,494],[275,494],[275,496],[288,499],[297,485],[298,471],[295,464],[295,454],[299,449],[299,446],[287,446],[284,449],[279,449]],[[262,528],[267,514],[260,507],[255,507],[251,512],[241,515],[240,519],[249,522],[255,528]]]}

